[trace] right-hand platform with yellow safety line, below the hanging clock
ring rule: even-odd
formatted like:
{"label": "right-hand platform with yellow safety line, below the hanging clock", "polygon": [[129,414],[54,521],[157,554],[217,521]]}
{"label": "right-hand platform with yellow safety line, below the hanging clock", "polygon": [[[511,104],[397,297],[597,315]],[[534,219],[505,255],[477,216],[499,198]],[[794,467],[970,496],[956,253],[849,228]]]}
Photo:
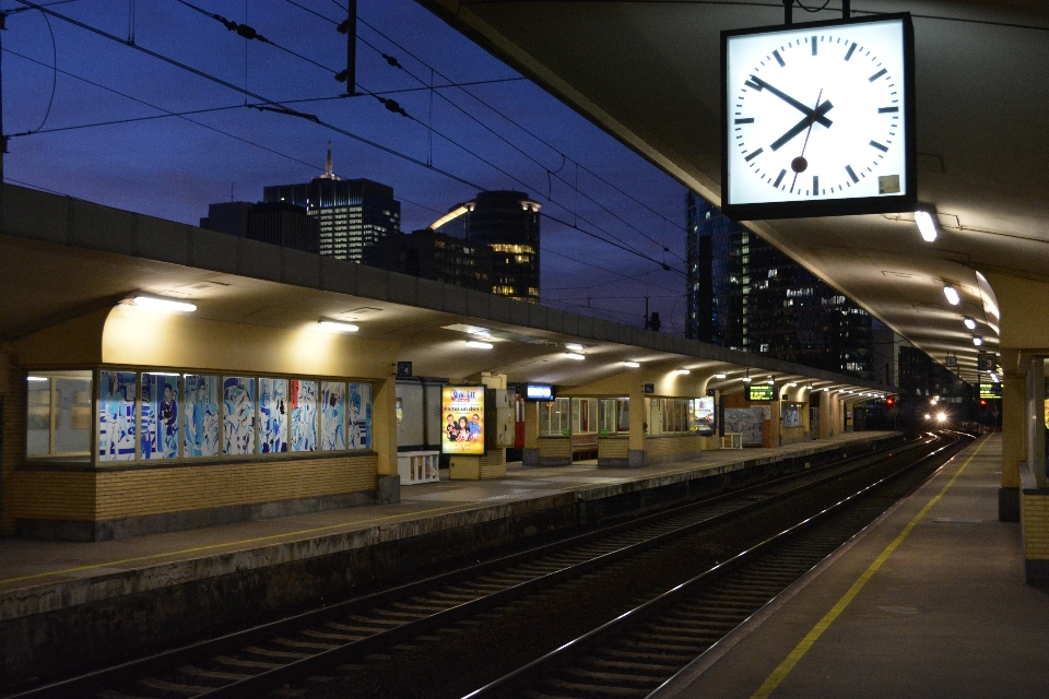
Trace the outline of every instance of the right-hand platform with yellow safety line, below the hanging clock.
{"label": "right-hand platform with yellow safety line, below the hanging clock", "polygon": [[1045,697],[1049,592],[1024,582],[1000,484],[992,434],[657,696]]}

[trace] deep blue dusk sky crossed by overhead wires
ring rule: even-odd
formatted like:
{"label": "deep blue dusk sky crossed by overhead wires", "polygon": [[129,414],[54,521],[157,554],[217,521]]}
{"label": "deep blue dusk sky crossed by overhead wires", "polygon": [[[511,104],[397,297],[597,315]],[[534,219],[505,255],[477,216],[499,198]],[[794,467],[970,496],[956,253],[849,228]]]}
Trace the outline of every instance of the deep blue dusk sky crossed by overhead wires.
{"label": "deep blue dusk sky crossed by overhead wires", "polygon": [[[663,330],[683,334],[685,188],[416,3],[358,2],[357,84],[396,99],[406,118],[374,96],[339,98],[343,0],[45,2],[422,164],[307,119],[246,107],[260,103],[63,20],[52,16],[48,26],[39,11],[3,0],[0,9],[15,11],[2,35],[7,181],[196,225],[209,203],[231,194],[258,201],[266,185],[321,174],[331,141],[337,175],[393,187],[405,232],[472,199],[478,189],[460,178],[527,191],[544,213],[615,236],[656,261],[544,217],[543,304],[640,324],[648,295]],[[190,4],[246,23],[272,44],[247,42]],[[431,81],[498,82],[432,92]],[[201,111],[168,115],[191,110]]]}

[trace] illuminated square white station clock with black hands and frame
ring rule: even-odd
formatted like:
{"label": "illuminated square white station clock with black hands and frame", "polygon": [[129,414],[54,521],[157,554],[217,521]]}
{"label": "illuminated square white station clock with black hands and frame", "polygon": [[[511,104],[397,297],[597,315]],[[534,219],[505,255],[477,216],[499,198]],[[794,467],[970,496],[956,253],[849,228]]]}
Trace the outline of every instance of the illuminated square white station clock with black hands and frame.
{"label": "illuminated square white station clock with black hands and frame", "polygon": [[909,14],[722,32],[722,210],[915,211]]}

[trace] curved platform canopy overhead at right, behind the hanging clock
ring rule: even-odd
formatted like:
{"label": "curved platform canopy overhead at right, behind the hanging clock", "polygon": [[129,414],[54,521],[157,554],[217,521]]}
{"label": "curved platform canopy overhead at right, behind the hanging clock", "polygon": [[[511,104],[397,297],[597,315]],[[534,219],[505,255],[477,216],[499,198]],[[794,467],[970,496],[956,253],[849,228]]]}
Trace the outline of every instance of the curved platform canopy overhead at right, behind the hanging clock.
{"label": "curved platform canopy overhead at right, behind the hanging clock", "polygon": [[[420,1],[715,204],[720,32],[783,22],[780,0]],[[975,380],[974,332],[992,352],[1009,332],[999,331],[991,288],[1019,311],[1005,320],[1027,334],[1012,346],[1040,342],[1032,324],[1046,334],[1044,317],[1032,316],[1049,292],[1049,3],[851,4],[854,16],[914,17],[918,196],[935,205],[942,233],[924,242],[910,213],[746,225],[935,359],[956,354],[963,378]],[[793,12],[795,22],[841,16],[840,2]],[[990,281],[982,289],[978,272]],[[960,292],[959,306],[945,284]]]}

